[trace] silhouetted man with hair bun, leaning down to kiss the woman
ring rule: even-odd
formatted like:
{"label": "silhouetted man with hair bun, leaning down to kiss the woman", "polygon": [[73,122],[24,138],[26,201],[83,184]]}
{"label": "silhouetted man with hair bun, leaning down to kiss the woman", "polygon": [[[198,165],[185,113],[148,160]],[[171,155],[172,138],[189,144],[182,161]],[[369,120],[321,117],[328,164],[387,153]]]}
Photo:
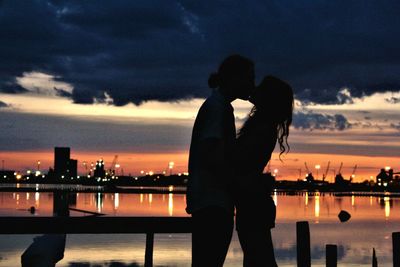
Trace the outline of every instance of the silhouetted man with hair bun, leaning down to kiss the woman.
{"label": "silhouetted man with hair bun, leaning down to kiss the woman", "polygon": [[192,266],[223,266],[233,231],[233,145],[231,102],[247,100],[254,89],[254,64],[233,55],[208,80],[212,95],[200,107],[189,154],[187,212],[192,214]]}

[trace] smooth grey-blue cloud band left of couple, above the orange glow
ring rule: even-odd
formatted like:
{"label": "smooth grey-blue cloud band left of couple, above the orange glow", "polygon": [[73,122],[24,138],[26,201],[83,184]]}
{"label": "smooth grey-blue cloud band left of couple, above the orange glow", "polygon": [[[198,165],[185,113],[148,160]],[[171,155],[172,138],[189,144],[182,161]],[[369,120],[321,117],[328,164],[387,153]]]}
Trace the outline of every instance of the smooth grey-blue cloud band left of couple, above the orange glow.
{"label": "smooth grey-blue cloud band left of couple, above the orange glow", "polygon": [[192,126],[16,112],[0,112],[0,118],[0,148],[4,151],[70,146],[90,151],[174,152],[189,147]]}

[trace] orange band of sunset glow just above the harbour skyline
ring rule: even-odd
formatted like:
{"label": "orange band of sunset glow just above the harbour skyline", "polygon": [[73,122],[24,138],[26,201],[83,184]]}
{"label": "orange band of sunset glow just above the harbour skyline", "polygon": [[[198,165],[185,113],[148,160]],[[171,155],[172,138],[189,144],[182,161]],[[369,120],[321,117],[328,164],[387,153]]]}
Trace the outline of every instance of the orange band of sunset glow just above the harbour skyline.
{"label": "orange band of sunset glow just above the harbour skyline", "polygon": [[[53,151],[30,151],[30,152],[0,152],[0,158],[4,159],[6,167],[9,169],[19,169],[23,166],[23,170],[36,170],[37,161],[40,160],[40,168],[46,171],[54,165]],[[168,164],[174,162],[173,173],[187,172],[188,152],[181,151],[175,153],[112,153],[112,152],[82,152],[71,151],[71,158],[78,159],[78,173],[84,174],[85,168],[83,162],[87,164],[96,163],[97,160],[103,159],[105,166],[111,164],[115,155],[118,155],[117,163],[123,169],[125,175],[141,175],[144,173],[162,173],[165,171],[169,174]],[[282,160],[282,161],[281,161]],[[326,180],[334,182],[334,173],[336,173],[343,162],[342,175],[349,179],[353,173],[354,166],[357,164],[354,182],[362,182],[364,180],[375,179],[381,168],[396,168],[399,164],[397,157],[369,157],[359,155],[340,155],[340,154],[306,154],[289,152],[279,159],[279,153],[273,153],[270,164],[266,167],[266,171],[277,170],[277,180],[297,180],[303,179],[307,174],[304,162],[307,163],[309,171],[313,173],[315,178],[322,179],[322,175],[326,172],[328,161],[330,167]],[[316,165],[320,165],[318,170]],[[144,173],[141,173],[143,171]],[[121,175],[121,170],[119,170]]]}

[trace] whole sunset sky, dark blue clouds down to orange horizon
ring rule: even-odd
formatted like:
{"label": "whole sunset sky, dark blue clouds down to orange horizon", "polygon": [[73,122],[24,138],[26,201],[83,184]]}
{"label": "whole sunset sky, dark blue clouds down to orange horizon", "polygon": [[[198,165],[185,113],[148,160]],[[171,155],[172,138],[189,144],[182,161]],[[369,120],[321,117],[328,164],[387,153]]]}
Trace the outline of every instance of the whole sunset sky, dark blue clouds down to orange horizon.
{"label": "whole sunset sky, dark blue clouds down to orange horizon", "polygon": [[[0,159],[53,166],[115,155],[125,173],[187,171],[197,110],[221,61],[241,54],[295,92],[297,179],[338,170],[370,179],[400,162],[399,1],[0,0]],[[237,129],[251,105],[233,103]],[[329,178],[329,177],[328,177]],[[332,177],[330,177],[332,178]]]}

